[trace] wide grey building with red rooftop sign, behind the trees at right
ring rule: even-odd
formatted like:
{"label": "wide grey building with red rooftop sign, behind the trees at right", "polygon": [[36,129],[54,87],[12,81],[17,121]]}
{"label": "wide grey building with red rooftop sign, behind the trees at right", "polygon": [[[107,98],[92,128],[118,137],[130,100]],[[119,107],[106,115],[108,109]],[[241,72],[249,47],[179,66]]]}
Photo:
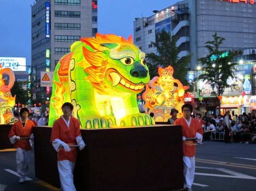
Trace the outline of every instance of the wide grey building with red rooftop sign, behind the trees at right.
{"label": "wide grey building with red rooftop sign, behind the trees at right", "polygon": [[193,54],[191,70],[200,64],[198,58],[208,54],[205,42],[215,32],[226,39],[220,50],[256,47],[255,0],[184,0],[153,12],[133,21],[134,43],[145,53],[156,53],[151,41],[156,42],[157,33],[164,29],[177,37],[180,58]]}

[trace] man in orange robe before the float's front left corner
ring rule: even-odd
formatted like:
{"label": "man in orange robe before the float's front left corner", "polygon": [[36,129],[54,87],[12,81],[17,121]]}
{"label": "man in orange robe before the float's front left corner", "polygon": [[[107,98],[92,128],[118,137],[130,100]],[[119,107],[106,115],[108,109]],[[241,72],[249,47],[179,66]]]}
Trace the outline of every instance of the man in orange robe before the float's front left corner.
{"label": "man in orange robe before the float's front left corner", "polygon": [[77,159],[77,148],[70,145],[85,147],[83,142],[80,123],[78,119],[70,117],[73,105],[66,102],[62,105],[63,115],[57,119],[52,127],[51,142],[58,152],[58,169],[60,174],[61,189],[63,191],[76,191],[73,182],[73,170]]}

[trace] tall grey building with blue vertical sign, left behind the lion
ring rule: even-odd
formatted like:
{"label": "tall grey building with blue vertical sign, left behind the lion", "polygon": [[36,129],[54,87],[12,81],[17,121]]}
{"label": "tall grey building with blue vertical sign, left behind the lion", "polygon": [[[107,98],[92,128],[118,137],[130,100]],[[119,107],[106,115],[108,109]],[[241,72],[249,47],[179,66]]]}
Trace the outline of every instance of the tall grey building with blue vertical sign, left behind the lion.
{"label": "tall grey building with blue vertical sign, left behind the lion", "polygon": [[31,8],[32,88],[44,94],[41,71],[54,71],[73,42],[96,35],[97,8],[97,0],[36,0]]}

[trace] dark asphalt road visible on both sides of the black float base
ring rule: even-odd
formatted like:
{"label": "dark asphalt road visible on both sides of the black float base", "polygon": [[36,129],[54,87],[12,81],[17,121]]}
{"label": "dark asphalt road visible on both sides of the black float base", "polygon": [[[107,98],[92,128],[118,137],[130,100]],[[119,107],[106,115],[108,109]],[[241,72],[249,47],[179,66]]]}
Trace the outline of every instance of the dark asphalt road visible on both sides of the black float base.
{"label": "dark asphalt road visible on both sides of the black float base", "polygon": [[[0,191],[59,190],[35,178],[33,150],[28,174],[33,180],[19,184],[18,176],[11,173],[17,172],[15,154],[15,151],[0,152]],[[256,190],[256,144],[203,142],[196,145],[195,158],[194,191]]]}

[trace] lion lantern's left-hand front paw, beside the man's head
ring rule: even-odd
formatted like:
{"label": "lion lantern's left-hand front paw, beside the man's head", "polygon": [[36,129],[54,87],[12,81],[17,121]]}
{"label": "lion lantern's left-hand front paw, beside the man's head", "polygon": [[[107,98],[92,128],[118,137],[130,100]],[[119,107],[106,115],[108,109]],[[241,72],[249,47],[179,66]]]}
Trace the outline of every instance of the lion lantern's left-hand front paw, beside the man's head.
{"label": "lion lantern's left-hand front paw, beside the man's head", "polygon": [[112,128],[115,125],[115,117],[113,116],[89,115],[80,117],[79,120],[83,129]]}

